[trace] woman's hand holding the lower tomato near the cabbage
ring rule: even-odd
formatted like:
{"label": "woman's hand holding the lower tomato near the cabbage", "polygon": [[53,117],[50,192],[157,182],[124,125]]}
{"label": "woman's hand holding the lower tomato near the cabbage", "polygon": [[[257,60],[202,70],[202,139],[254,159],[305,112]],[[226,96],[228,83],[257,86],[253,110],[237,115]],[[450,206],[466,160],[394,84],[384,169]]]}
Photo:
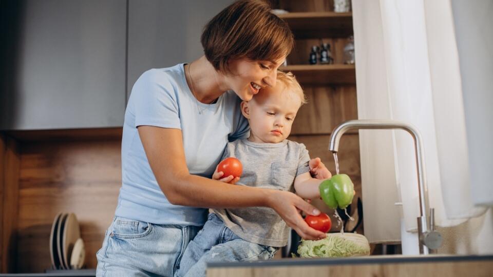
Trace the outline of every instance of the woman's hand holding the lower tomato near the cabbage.
{"label": "woman's hand holding the lower tomato near the cabbage", "polygon": [[299,211],[306,214],[318,215],[320,211],[305,202],[298,195],[282,190],[273,190],[269,197],[269,207],[274,209],[289,227],[298,233],[304,240],[320,240],[327,237],[323,232],[317,231],[303,220]]}

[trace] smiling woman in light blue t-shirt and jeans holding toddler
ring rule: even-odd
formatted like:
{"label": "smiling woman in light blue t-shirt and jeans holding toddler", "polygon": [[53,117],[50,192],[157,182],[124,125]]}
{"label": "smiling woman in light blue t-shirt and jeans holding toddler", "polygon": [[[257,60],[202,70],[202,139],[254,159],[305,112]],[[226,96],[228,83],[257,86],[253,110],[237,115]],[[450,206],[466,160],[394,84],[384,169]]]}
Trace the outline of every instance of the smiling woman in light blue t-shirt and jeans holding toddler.
{"label": "smiling woman in light blue t-shirt and jeans holding toddler", "polygon": [[[289,27],[266,3],[239,1],[211,19],[201,42],[204,56],[149,70],[132,88],[122,188],[97,254],[98,276],[173,276],[206,208],[270,207],[302,238],[325,238],[298,212],[319,211],[294,193],[210,179],[226,143],[248,135],[240,102],[275,84],[293,48]],[[330,176],[318,158],[310,167],[320,179]]]}

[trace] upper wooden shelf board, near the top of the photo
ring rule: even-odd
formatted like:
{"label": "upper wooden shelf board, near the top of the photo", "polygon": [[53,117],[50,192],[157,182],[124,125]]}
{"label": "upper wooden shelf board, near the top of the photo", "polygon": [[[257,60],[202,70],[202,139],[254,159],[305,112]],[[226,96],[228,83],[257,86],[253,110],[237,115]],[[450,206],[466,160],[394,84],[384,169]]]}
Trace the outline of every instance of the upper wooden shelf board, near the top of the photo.
{"label": "upper wooden shelf board, near the top of the photo", "polygon": [[296,39],[348,37],[353,34],[351,12],[289,12],[278,16],[288,23]]}

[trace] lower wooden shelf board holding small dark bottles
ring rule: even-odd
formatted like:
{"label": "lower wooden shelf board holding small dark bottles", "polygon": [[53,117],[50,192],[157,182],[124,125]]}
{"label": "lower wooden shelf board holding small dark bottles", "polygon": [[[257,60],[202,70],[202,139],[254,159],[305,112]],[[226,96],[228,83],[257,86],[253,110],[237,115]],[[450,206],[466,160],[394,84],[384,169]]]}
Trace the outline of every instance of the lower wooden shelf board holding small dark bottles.
{"label": "lower wooden shelf board holding small dark bottles", "polygon": [[306,85],[355,85],[354,65],[289,65],[279,68],[291,71],[301,84]]}

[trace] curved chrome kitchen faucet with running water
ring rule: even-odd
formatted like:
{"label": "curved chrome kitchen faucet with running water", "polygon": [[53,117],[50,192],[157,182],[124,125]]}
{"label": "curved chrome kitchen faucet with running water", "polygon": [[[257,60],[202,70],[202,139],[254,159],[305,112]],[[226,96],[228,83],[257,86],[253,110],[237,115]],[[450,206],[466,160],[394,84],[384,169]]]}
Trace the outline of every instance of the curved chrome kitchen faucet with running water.
{"label": "curved chrome kitchen faucet with running water", "polygon": [[[442,245],[442,236],[434,230],[434,210],[428,209],[428,189],[426,186],[426,172],[421,134],[413,125],[393,120],[350,120],[339,124],[330,135],[329,150],[337,153],[340,137],[350,129],[402,129],[409,132],[414,139],[416,167],[418,168],[418,192],[420,200],[420,217],[418,217],[418,235],[420,254],[434,252]],[[428,210],[429,216],[428,216]],[[428,220],[430,219],[430,229]]]}

